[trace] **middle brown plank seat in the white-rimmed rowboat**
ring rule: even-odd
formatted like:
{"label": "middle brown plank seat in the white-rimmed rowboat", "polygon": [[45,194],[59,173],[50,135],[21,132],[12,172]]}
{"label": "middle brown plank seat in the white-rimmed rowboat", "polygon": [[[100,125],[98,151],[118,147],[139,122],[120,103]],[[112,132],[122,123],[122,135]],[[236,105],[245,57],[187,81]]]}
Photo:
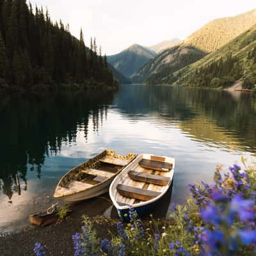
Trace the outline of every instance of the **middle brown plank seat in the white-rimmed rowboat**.
{"label": "middle brown plank seat in the white-rimmed rowboat", "polygon": [[160,186],[168,185],[168,182],[170,180],[170,177],[163,177],[160,175],[153,175],[153,174],[148,174],[144,172],[130,171],[128,172],[128,175],[132,180],[137,180],[137,181],[160,185]]}

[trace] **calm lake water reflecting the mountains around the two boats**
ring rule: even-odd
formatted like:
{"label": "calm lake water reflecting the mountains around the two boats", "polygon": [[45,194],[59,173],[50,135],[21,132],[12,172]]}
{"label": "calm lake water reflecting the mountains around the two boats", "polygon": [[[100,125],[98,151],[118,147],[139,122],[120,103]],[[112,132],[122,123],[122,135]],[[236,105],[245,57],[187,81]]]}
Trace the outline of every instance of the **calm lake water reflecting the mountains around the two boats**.
{"label": "calm lake water reflecting the mountains around the two boats", "polygon": [[[256,152],[256,103],[248,93],[132,84],[117,93],[8,96],[1,97],[0,120],[1,232],[49,207],[61,176],[105,148],[175,157],[178,204],[188,184],[212,182],[217,164],[228,168]],[[162,204],[155,214],[164,217],[170,198]],[[90,216],[111,212],[102,198],[80,208]]]}

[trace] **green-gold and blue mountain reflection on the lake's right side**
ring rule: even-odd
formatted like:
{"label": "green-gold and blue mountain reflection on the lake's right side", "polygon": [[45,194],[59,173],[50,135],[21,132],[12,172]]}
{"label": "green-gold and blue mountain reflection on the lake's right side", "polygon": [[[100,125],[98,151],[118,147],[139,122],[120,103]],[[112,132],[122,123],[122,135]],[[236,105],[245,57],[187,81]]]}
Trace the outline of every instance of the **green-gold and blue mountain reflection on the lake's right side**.
{"label": "green-gold and blue mountain reflection on the lake's right side", "polygon": [[176,125],[194,140],[256,151],[256,104],[250,93],[170,86],[122,88],[118,111],[159,127]]}

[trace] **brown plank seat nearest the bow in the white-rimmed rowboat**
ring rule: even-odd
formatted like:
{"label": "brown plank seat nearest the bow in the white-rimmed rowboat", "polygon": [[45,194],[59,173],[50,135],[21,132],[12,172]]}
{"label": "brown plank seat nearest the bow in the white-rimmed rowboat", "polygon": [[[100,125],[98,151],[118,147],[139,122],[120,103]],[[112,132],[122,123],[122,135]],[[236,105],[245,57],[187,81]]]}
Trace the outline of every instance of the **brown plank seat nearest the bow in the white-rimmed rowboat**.
{"label": "brown plank seat nearest the bow in the white-rimmed rowboat", "polygon": [[156,191],[151,191],[142,188],[134,188],[131,186],[126,186],[122,184],[118,184],[116,186],[118,193],[122,196],[126,196],[129,198],[139,199],[141,201],[152,200],[153,198],[161,195],[161,193]]}

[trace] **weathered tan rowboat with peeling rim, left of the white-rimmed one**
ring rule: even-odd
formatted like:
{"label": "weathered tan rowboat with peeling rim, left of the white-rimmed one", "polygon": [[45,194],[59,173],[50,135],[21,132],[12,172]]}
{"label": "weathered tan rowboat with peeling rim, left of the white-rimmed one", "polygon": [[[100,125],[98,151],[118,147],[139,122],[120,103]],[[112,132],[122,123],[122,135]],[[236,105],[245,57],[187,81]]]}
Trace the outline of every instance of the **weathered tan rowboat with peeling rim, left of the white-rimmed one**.
{"label": "weathered tan rowboat with peeling rim, left of the white-rimmed one", "polygon": [[54,198],[75,203],[108,192],[115,176],[129,164],[136,154],[121,156],[113,150],[105,150],[89,161],[65,174],[54,192]]}

